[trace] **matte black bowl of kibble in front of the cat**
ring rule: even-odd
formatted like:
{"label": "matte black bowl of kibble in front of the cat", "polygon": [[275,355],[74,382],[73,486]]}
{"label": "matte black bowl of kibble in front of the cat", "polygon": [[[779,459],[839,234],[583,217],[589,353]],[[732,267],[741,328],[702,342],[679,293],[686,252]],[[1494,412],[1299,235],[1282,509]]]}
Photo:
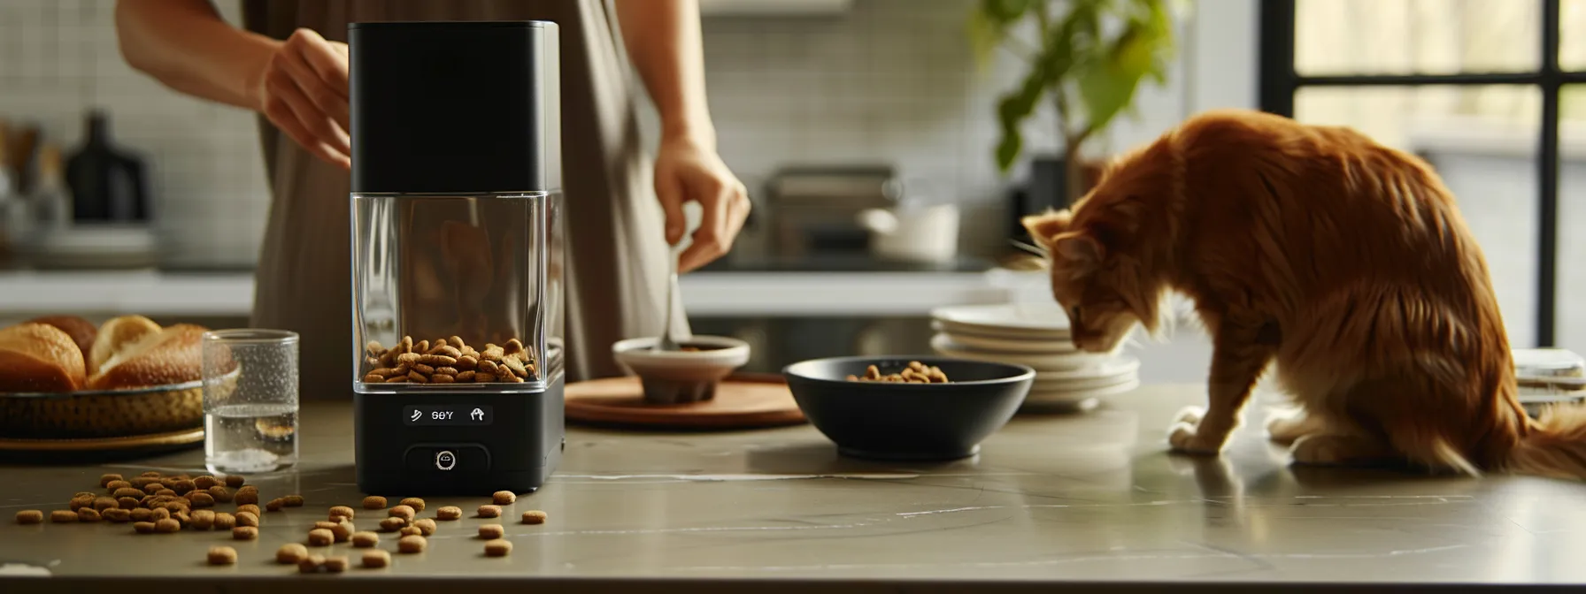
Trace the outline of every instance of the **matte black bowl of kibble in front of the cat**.
{"label": "matte black bowl of kibble in front of the cat", "polygon": [[[920,361],[952,383],[849,382],[868,366],[883,374]],[[1029,393],[1026,366],[940,356],[839,356],[782,369],[793,399],[837,451],[872,459],[958,459],[980,451]]]}

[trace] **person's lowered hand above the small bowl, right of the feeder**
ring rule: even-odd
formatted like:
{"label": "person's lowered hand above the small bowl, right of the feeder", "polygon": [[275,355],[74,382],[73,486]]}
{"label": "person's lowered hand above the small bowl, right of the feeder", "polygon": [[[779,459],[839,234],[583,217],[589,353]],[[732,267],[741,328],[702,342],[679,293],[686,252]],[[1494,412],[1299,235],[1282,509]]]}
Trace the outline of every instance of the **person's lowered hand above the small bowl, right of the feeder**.
{"label": "person's lowered hand above the small bowl, right of the feeder", "polygon": [[733,239],[749,219],[749,192],[722,163],[714,149],[688,138],[661,141],[655,155],[655,196],[666,212],[666,242],[684,239],[684,203],[704,208],[693,244],[677,258],[677,271],[709,265],[733,249]]}

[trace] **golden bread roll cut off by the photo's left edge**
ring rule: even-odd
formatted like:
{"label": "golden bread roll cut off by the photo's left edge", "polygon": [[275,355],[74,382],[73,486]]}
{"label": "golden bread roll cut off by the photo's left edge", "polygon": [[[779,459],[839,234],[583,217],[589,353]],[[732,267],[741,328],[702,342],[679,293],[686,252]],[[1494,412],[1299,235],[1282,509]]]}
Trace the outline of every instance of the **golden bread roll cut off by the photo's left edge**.
{"label": "golden bread roll cut off by the photo's left edge", "polygon": [[65,393],[84,383],[82,352],[48,323],[0,329],[0,393]]}

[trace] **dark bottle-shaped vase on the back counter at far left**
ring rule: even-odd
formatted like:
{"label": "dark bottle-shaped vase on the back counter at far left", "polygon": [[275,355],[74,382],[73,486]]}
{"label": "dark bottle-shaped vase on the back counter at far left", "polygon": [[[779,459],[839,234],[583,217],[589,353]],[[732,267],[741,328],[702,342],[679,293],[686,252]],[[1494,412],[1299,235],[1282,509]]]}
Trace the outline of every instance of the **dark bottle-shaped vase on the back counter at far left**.
{"label": "dark bottle-shaped vase on the back counter at far left", "polygon": [[146,168],[136,154],[111,144],[109,117],[92,111],[87,139],[67,160],[73,222],[146,223],[149,188]]}

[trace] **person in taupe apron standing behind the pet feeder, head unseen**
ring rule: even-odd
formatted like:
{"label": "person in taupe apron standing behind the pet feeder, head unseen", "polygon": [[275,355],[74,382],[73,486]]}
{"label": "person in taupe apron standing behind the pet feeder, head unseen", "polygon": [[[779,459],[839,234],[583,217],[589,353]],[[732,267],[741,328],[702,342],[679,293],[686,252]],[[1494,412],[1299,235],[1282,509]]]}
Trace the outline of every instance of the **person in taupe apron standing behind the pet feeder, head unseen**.
{"label": "person in taupe apron standing behind the pet feeder, head unseen", "polygon": [[[236,29],[208,0],[117,3],[116,29],[133,68],[260,114],[273,203],[252,323],[301,334],[303,398],[346,398],[354,379],[349,22],[560,25],[568,380],[620,375],[611,344],[661,333],[668,244],[684,239],[684,203],[699,203],[703,217],[679,269],[726,253],[749,200],[717,155],[698,3],[612,0],[611,8],[604,0],[243,0]],[[619,30],[661,116],[653,165],[641,147]],[[680,304],[669,314],[687,328]]]}

